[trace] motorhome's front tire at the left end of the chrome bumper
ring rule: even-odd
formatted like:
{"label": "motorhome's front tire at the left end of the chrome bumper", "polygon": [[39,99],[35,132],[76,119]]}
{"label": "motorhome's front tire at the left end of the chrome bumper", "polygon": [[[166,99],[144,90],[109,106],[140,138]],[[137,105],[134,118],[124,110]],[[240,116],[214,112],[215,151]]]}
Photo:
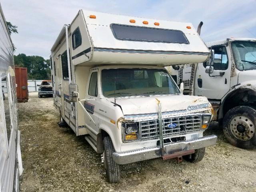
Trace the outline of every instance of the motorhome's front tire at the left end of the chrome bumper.
{"label": "motorhome's front tire at the left end of the chrome bumper", "polygon": [[120,165],[116,164],[112,158],[112,154],[115,152],[115,150],[109,136],[104,137],[103,144],[103,158],[106,175],[110,183],[116,183],[121,178],[121,168]]}

